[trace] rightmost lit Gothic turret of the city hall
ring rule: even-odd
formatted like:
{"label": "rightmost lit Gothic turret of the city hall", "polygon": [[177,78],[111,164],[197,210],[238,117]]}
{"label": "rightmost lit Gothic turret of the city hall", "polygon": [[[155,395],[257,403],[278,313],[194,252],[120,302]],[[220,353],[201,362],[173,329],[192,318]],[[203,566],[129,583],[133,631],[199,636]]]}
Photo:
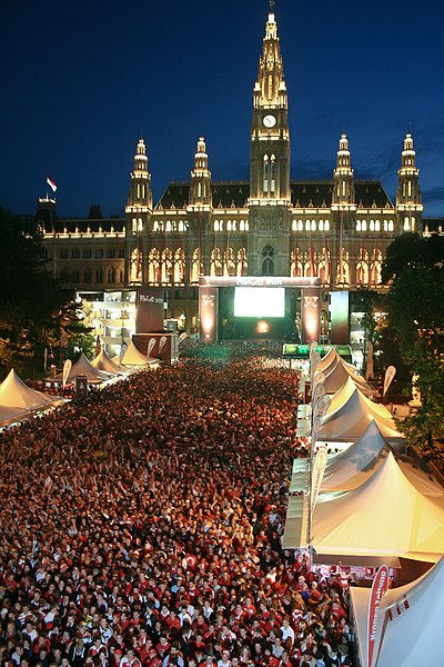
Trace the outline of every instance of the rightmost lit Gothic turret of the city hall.
{"label": "rightmost lit Gothic turret of the city hall", "polygon": [[398,187],[396,208],[400,213],[401,230],[420,231],[418,223],[424,207],[421,201],[420,170],[416,167],[416,152],[410,132],[404,139],[401,169],[397,171]]}

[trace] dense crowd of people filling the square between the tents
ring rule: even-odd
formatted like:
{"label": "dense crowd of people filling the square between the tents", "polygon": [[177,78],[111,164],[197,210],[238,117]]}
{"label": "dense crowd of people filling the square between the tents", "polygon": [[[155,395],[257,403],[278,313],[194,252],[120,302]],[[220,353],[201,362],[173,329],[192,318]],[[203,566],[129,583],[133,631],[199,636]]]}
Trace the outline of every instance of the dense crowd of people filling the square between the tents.
{"label": "dense crowd of people filling the square between the tents", "polygon": [[353,664],[346,581],[282,548],[297,396],[194,357],[4,429],[0,664]]}

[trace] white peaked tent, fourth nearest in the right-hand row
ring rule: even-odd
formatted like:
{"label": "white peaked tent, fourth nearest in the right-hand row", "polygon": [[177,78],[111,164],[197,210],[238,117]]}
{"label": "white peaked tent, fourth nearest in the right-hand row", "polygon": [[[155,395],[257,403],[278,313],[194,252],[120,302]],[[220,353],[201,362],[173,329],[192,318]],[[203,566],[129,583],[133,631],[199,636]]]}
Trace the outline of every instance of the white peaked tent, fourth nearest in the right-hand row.
{"label": "white peaked tent, fourth nearest in the right-hand row", "polygon": [[333,395],[332,401],[321,420],[317,434],[320,442],[354,442],[361,438],[374,419],[385,440],[395,444],[404,440],[396,430],[389,410],[366,398],[352,378]]}

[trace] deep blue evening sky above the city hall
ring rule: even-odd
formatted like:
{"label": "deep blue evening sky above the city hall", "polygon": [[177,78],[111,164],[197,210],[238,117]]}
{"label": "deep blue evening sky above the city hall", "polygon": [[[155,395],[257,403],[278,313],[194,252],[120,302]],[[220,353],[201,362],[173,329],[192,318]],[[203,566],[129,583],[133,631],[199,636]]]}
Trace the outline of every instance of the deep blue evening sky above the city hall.
{"label": "deep blue evening sky above the city hall", "polygon": [[[62,216],[120,213],[140,133],[154,197],[188,180],[204,133],[214,180],[248,179],[268,0],[23,0],[0,8],[0,205],[33,212],[47,171]],[[390,197],[405,132],[426,216],[444,216],[440,0],[276,0],[292,178],[330,178],[341,132],[356,178]]]}

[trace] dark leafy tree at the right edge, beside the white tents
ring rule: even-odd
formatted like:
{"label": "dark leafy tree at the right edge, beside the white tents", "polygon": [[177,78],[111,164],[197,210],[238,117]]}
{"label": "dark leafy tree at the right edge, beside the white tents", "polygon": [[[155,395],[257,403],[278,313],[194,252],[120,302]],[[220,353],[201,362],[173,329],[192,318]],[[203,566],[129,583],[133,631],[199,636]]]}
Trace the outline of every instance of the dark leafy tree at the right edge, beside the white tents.
{"label": "dark leafy tree at the right edge, beside the white tents", "polygon": [[443,238],[406,233],[390,246],[383,267],[389,326],[422,395],[422,407],[403,425],[412,444],[444,438],[443,262]]}

